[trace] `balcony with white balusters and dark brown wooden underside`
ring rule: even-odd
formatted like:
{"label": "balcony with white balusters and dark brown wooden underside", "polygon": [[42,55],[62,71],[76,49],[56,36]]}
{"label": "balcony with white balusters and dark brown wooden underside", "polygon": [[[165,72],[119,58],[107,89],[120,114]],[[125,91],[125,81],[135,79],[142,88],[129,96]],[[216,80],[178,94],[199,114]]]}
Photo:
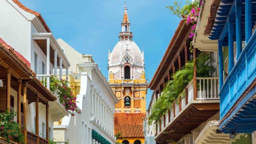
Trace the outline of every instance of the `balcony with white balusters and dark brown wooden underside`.
{"label": "balcony with white balusters and dark brown wooden underside", "polygon": [[184,90],[185,95],[158,122],[156,141],[179,140],[204,123],[219,111],[218,77],[196,78],[197,93],[191,81]]}

